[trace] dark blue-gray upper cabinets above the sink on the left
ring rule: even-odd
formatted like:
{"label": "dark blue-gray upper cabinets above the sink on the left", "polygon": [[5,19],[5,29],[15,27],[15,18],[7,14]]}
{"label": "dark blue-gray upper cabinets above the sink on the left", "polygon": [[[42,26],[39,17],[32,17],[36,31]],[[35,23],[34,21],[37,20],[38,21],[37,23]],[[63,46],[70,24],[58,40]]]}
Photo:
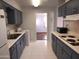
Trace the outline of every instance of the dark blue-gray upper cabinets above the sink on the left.
{"label": "dark blue-gray upper cabinets above the sink on the left", "polygon": [[19,26],[22,24],[22,12],[4,1],[0,2],[1,8],[5,10],[8,24]]}

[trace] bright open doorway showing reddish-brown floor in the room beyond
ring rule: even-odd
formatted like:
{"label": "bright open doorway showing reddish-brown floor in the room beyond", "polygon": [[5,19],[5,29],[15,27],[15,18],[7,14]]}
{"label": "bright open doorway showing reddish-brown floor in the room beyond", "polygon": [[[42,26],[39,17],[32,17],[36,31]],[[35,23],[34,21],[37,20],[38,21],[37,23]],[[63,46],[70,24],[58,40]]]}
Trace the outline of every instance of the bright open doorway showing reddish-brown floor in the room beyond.
{"label": "bright open doorway showing reddish-brown floor in the room beyond", "polygon": [[37,40],[47,39],[47,13],[36,13]]}

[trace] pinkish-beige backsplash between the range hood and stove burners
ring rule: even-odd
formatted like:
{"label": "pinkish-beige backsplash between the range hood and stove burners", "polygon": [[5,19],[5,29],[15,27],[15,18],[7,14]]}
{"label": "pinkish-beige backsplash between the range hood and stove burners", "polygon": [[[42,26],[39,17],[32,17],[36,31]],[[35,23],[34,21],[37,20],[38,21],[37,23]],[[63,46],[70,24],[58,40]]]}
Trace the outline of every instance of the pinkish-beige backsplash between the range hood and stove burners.
{"label": "pinkish-beige backsplash between the range hood and stove burners", "polygon": [[64,21],[64,26],[67,27],[71,32],[79,33],[79,20]]}

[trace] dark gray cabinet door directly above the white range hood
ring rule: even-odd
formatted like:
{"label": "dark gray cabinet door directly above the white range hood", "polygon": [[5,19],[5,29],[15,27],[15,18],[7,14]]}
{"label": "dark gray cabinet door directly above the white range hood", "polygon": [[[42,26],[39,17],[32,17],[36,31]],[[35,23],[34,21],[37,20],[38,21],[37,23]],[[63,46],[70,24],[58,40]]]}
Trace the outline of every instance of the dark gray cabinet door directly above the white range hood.
{"label": "dark gray cabinet door directly above the white range hood", "polygon": [[79,0],[71,0],[67,3],[67,15],[79,13]]}

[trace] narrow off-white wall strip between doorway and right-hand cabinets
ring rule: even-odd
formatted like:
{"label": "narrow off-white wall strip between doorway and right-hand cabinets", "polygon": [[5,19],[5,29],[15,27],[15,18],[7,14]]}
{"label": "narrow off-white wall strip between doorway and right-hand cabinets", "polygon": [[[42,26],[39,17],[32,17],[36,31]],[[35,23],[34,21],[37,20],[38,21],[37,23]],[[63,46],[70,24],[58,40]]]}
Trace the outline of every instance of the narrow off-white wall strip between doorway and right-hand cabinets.
{"label": "narrow off-white wall strip between doorway and right-hand cabinets", "polygon": [[52,12],[48,14],[48,43],[51,43],[51,33],[56,31],[57,27],[57,7],[53,9]]}

